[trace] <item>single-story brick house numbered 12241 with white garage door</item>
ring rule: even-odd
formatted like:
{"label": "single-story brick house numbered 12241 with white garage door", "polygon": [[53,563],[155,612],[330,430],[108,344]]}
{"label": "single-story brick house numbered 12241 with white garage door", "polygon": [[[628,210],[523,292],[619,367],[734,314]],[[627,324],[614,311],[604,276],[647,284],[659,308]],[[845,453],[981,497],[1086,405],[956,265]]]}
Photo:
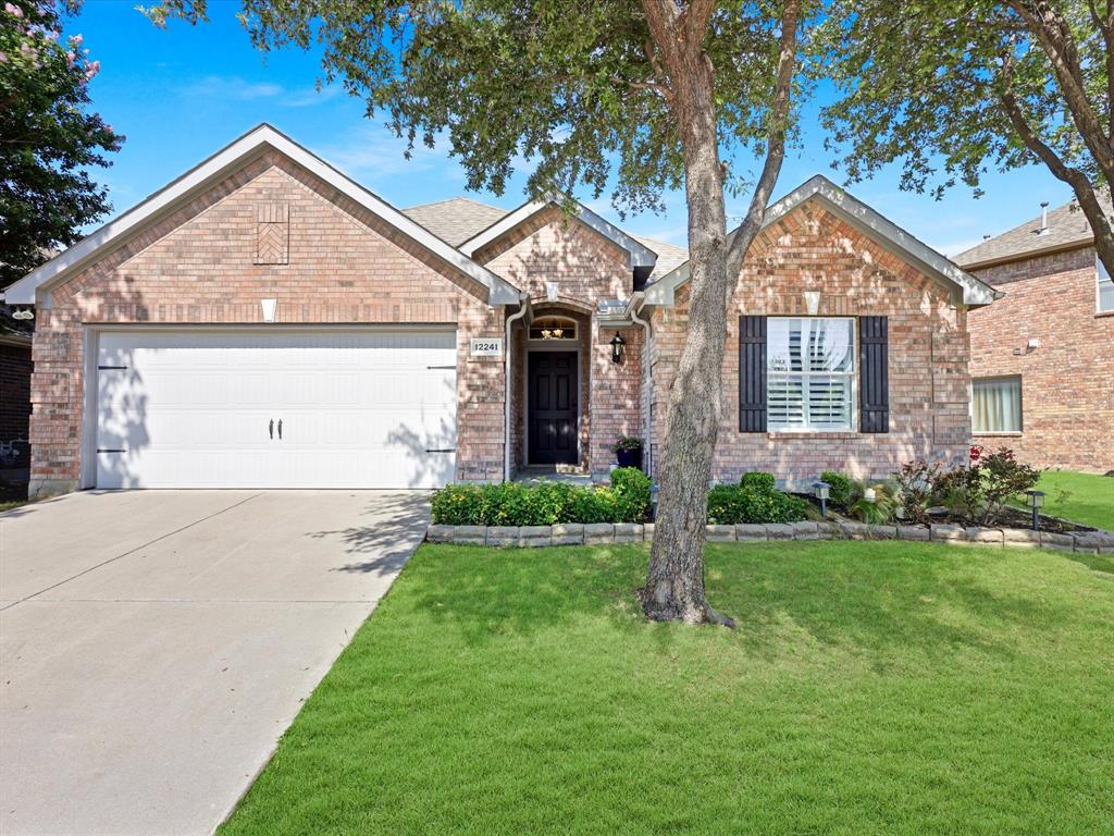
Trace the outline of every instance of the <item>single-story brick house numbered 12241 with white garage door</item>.
{"label": "single-story brick house numbered 12241 with white garage door", "polygon": [[[403,212],[252,130],[9,289],[38,324],[32,490],[602,477],[622,435],[653,468],[687,256],[574,208]],[[823,177],[794,189],[730,301],[716,478],[965,460],[994,298]]]}

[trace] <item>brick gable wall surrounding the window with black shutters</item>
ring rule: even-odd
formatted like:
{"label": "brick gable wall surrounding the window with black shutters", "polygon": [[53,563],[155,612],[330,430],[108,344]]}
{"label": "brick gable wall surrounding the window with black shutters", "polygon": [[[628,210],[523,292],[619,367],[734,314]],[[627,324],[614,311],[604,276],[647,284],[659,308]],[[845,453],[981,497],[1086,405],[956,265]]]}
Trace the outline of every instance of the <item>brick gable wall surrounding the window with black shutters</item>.
{"label": "brick gable wall surrounding the window with black shutters", "polygon": [[[805,436],[739,431],[739,317],[805,315],[802,292],[821,292],[820,315],[889,317],[890,431]],[[651,351],[654,445],[661,464],[672,369],[687,325],[687,289],[654,313]],[[970,441],[966,314],[948,292],[839,218],[805,203],[755,240],[727,309],[723,402],[713,477],[746,470],[811,483],[832,468],[887,478],[910,459],[965,461]]]}

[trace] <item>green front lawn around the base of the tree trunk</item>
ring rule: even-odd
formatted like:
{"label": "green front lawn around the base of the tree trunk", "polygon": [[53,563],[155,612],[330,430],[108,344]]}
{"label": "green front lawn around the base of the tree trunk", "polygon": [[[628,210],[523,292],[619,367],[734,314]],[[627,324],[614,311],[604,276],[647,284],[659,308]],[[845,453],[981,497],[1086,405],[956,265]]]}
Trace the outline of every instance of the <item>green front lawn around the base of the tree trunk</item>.
{"label": "green front lawn around the base of the tree trunk", "polygon": [[710,545],[735,632],[645,561],[423,546],[221,833],[1114,833],[1114,557]]}

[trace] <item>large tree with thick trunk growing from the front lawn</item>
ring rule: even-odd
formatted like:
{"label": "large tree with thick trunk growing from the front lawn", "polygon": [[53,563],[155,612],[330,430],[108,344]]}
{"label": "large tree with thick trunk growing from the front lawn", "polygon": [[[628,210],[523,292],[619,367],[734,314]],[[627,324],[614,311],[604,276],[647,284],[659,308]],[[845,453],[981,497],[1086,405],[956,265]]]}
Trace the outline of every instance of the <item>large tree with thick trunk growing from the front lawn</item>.
{"label": "large tree with thick trunk growing from the front lawn", "polygon": [[[324,48],[340,79],[411,144],[444,134],[472,188],[501,192],[512,161],[534,196],[587,185],[625,210],[683,185],[688,332],[666,417],[659,515],[643,607],[651,619],[731,623],[704,590],[706,490],[722,404],[726,300],[778,179],[792,121],[803,0],[244,0],[265,49]],[[204,19],[205,0],[148,13]],[[756,153],[745,218],[725,191]]]}

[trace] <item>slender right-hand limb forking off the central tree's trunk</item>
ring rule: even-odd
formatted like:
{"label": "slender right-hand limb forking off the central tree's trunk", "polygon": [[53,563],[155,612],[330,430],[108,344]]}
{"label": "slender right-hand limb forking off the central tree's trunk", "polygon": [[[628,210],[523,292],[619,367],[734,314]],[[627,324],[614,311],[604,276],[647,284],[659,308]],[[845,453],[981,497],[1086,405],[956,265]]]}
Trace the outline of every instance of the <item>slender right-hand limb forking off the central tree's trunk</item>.
{"label": "slender right-hand limb forking off the central tree's trunk", "polygon": [[770,107],[766,157],[762,166],[762,174],[754,186],[754,193],[751,195],[746,217],[739,229],[735,230],[727,249],[727,276],[731,288],[734,288],[735,282],[739,280],[739,271],[742,269],[743,256],[746,255],[746,251],[750,250],[755,235],[758,235],[759,230],[762,227],[762,220],[770,203],[770,195],[778,183],[778,175],[781,174],[781,165],[785,159],[785,133],[789,129],[793,68],[797,64],[797,28],[800,22],[800,0],[785,0],[781,16],[781,47],[778,56],[778,71],[774,77],[774,97]]}

